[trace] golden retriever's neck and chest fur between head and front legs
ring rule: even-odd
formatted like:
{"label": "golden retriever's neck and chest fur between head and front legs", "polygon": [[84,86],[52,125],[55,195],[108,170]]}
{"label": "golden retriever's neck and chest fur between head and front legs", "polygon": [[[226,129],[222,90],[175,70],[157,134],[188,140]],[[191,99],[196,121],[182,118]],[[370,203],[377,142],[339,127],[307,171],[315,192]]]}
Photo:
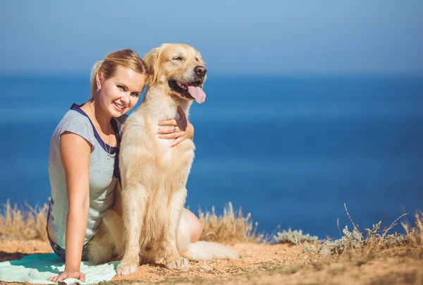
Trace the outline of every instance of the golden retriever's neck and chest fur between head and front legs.
{"label": "golden retriever's neck and chest fur between head and front legs", "polygon": [[[125,192],[132,189],[135,193],[130,193],[131,198],[147,200],[145,209],[141,210],[144,211],[144,226],[140,241],[142,248],[154,248],[162,240],[164,231],[168,230],[166,226],[169,215],[174,214],[169,212],[173,208],[171,205],[183,205],[185,201],[185,185],[194,158],[195,145],[192,140],[187,139],[171,147],[173,140],[158,138],[157,123],[164,119],[177,118],[176,107],[164,108],[163,103],[160,107],[152,106],[152,102],[148,100],[145,103],[123,126],[119,165],[123,180],[122,195],[128,195]],[[133,185],[134,183],[139,183],[140,187]]]}

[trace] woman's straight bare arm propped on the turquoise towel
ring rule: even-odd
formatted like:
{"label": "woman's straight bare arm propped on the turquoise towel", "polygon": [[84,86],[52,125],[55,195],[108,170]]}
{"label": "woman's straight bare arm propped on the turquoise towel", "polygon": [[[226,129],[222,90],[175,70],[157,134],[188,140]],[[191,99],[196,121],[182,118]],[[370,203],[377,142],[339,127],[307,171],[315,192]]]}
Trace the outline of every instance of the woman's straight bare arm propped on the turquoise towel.
{"label": "woman's straight bare arm propped on the turquoise towel", "polygon": [[90,209],[90,153],[91,145],[84,138],[68,132],[61,135],[60,157],[66,176],[69,211],[65,271],[52,277],[54,282],[66,278],[85,281],[85,275],[80,272],[80,262]]}

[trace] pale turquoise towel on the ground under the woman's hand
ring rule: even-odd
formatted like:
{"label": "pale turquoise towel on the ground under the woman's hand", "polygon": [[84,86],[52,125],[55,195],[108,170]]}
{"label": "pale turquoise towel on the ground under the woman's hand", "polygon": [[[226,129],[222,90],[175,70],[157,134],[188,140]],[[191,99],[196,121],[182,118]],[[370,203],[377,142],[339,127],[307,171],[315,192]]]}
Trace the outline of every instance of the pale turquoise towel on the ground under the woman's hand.
{"label": "pale turquoise towel on the ground under the woman's hand", "polygon": [[[63,282],[66,284],[92,284],[99,281],[110,281],[116,275],[115,269],[118,264],[118,261],[104,265],[81,262],[81,272],[85,274],[85,283],[73,278],[65,279]],[[54,253],[27,255],[21,260],[0,262],[0,281],[54,284],[47,279],[59,275],[64,269],[65,263]],[[56,284],[63,283],[56,282]]]}

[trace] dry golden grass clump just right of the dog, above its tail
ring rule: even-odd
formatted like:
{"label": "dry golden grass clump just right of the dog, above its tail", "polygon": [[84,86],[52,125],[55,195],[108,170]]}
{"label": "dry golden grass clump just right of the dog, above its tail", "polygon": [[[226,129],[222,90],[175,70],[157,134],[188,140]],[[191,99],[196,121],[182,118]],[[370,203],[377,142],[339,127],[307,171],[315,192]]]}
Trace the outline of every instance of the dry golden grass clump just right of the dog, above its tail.
{"label": "dry golden grass clump just right of the dog, above its tail", "polygon": [[214,207],[212,212],[202,212],[200,209],[198,215],[204,227],[200,241],[258,243],[267,238],[264,234],[257,234],[257,222],[253,226],[251,214],[244,217],[241,208],[235,213],[231,202],[223,209],[223,216],[217,216]]}

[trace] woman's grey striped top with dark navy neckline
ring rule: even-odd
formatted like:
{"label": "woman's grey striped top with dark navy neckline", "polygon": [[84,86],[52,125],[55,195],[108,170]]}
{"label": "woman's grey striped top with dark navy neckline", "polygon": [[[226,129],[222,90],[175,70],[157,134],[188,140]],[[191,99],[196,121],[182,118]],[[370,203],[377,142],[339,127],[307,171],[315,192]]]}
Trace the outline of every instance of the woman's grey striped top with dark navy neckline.
{"label": "woman's grey striped top with dark navy neckline", "polygon": [[[82,105],[73,104],[63,116],[54,130],[50,142],[49,177],[51,186],[49,223],[61,248],[65,248],[66,217],[68,215],[68,195],[66,178],[60,158],[60,136],[63,132],[71,132],[85,138],[90,144],[90,210],[84,244],[90,241],[99,228],[104,212],[114,204],[113,190],[119,178],[118,147],[110,147],[100,138],[94,124],[85,114]],[[127,115],[111,119],[116,140],[121,141],[122,124]],[[107,158],[109,150],[111,157]]]}

